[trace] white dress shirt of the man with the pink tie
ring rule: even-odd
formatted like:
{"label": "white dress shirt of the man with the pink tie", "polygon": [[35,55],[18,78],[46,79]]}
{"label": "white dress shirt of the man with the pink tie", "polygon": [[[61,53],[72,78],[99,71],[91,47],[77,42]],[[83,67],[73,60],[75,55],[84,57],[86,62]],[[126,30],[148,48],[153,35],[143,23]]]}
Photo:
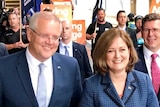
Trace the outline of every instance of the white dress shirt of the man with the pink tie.
{"label": "white dress shirt of the man with the pink tie", "polygon": [[[152,76],[151,76],[151,62],[152,62],[151,55],[154,53],[152,51],[150,51],[149,49],[147,49],[145,45],[143,45],[143,53],[144,53],[144,59],[145,59],[145,63],[147,66],[148,74],[149,74],[150,78],[152,79]],[[157,62],[158,67],[160,68],[160,50],[158,50],[155,53],[158,54],[158,57],[156,58],[156,62]]]}

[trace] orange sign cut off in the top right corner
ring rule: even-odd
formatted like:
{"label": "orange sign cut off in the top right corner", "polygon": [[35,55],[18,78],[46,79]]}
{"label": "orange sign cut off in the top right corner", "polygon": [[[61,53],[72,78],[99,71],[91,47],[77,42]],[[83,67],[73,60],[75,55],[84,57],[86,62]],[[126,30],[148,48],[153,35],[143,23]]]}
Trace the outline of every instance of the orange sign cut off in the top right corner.
{"label": "orange sign cut off in the top right corner", "polygon": [[152,0],[151,1],[149,12],[160,14],[160,0]]}

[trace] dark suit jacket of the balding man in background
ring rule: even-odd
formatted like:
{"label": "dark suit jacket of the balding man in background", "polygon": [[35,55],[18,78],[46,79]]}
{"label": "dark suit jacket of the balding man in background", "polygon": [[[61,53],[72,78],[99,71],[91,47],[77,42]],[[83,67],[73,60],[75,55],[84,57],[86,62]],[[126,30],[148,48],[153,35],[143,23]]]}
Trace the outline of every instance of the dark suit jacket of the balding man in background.
{"label": "dark suit jacket of the balding man in background", "polygon": [[[57,50],[59,52],[59,48]],[[92,75],[92,69],[89,63],[88,54],[84,45],[73,42],[73,57],[77,59],[82,81]]]}

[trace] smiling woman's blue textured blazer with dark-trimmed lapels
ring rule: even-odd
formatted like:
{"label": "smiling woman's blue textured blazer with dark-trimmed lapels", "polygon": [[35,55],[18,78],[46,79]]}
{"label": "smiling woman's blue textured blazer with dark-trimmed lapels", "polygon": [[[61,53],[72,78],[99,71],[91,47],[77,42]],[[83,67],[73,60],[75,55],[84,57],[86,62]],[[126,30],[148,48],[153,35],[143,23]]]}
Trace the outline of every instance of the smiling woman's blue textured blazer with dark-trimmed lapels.
{"label": "smiling woman's blue textured blazer with dark-trimmed lapels", "polygon": [[127,75],[122,98],[109,77],[96,74],[84,82],[79,107],[159,107],[149,76],[139,71]]}

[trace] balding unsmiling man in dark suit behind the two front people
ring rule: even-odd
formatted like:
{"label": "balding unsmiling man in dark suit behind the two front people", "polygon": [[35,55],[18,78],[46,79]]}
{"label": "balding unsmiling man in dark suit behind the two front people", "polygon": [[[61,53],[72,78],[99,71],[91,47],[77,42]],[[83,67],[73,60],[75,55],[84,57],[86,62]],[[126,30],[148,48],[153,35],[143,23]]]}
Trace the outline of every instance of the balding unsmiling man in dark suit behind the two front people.
{"label": "balding unsmiling man in dark suit behind the two front people", "polygon": [[72,41],[72,23],[69,20],[62,21],[62,35],[58,48],[58,52],[65,54],[65,48],[69,52],[70,57],[75,57],[78,61],[82,81],[92,75],[91,66],[89,63],[88,54],[84,45]]}

